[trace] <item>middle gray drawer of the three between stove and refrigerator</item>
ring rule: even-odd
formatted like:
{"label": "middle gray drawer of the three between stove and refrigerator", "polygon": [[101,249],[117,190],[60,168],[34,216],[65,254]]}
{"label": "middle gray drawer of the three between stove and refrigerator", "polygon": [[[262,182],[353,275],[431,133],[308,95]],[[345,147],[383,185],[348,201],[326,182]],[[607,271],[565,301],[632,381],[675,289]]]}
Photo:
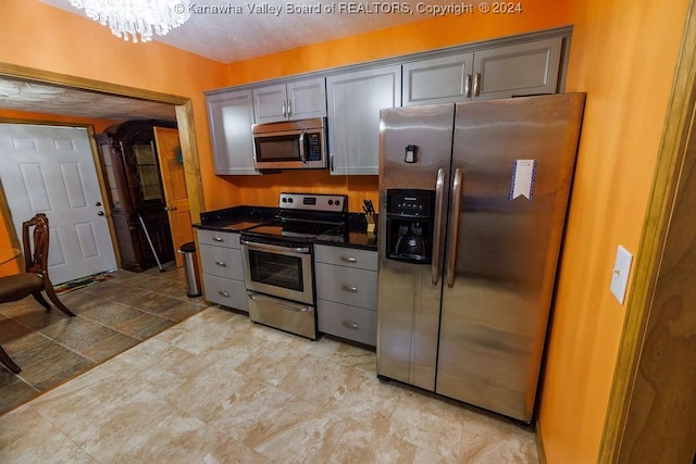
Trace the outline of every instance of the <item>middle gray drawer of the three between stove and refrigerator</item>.
{"label": "middle gray drawer of the three between stove and refrigerator", "polygon": [[377,273],[316,263],[316,298],[377,309]]}

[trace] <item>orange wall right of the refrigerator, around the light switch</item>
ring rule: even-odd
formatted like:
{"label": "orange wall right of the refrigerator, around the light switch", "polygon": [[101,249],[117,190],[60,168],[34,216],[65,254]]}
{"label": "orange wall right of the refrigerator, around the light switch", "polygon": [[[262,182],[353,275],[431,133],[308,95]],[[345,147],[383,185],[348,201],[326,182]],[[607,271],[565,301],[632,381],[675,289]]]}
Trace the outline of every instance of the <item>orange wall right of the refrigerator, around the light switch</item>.
{"label": "orange wall right of the refrigerator, around the light switch", "polygon": [[641,258],[687,5],[575,5],[566,90],[587,92],[587,104],[540,407],[549,463],[597,460],[625,316],[611,272],[619,244]]}

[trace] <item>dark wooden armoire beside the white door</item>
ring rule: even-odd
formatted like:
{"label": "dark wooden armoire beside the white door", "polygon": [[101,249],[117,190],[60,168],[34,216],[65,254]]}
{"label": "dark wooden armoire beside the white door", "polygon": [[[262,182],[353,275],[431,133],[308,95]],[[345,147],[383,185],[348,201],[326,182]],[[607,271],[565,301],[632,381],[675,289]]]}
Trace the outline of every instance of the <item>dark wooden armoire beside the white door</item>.
{"label": "dark wooden armoire beside the white door", "polygon": [[[95,135],[99,146],[121,267],[142,272],[174,260],[153,127],[176,127],[162,121],[127,121]],[[142,226],[145,223],[145,228]]]}

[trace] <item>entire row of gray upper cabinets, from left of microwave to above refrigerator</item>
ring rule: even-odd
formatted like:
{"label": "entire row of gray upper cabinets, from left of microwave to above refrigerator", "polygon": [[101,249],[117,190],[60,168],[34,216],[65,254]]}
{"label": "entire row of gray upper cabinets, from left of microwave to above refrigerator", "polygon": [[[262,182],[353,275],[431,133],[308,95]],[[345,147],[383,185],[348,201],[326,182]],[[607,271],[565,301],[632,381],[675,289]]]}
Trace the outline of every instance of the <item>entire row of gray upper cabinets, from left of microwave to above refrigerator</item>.
{"label": "entire row of gray upper cabinets, from left of microwave to above refrigerator", "polygon": [[215,174],[259,174],[254,123],[327,117],[334,175],[378,175],[380,110],[563,91],[570,28],[207,93]]}

